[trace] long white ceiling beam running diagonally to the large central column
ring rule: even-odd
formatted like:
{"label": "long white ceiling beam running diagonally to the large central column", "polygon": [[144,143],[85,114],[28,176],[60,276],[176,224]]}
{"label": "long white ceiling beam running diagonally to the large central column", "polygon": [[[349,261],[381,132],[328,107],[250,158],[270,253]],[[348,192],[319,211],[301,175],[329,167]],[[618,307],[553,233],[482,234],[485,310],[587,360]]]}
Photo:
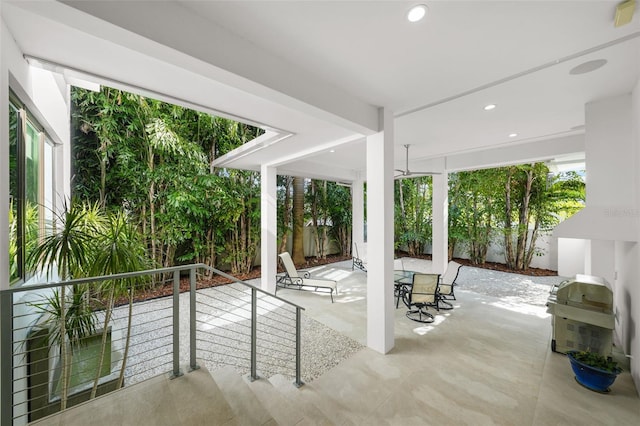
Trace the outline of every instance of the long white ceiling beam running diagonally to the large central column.
{"label": "long white ceiling beam running diagonally to the large central column", "polygon": [[[123,2],[117,8],[110,2],[66,3],[129,32],[127,36],[120,32],[114,34],[102,23],[98,33],[101,38],[113,38],[122,43],[122,38],[126,37],[123,45],[127,48],[172,62],[176,52],[182,52],[185,58],[182,63],[175,63],[177,66],[189,67],[193,59],[197,59],[213,65],[216,68],[214,78],[224,84],[359,133],[371,134],[378,130],[377,111],[372,105],[258,48],[176,2],[154,2],[153,7],[148,7],[146,2]],[[20,6],[36,13],[48,13],[55,7]],[[65,24],[96,34],[97,25],[90,26],[86,22],[89,21],[88,16],[84,22],[78,22],[69,18],[75,14],[65,14],[64,10],[56,12],[59,20],[66,18]],[[188,22],[189,31],[167,31],[176,22]],[[133,34],[139,37],[133,37]],[[148,40],[158,45],[149,49]],[[209,40],[215,40],[215,43]],[[169,47],[171,52],[160,46]]]}

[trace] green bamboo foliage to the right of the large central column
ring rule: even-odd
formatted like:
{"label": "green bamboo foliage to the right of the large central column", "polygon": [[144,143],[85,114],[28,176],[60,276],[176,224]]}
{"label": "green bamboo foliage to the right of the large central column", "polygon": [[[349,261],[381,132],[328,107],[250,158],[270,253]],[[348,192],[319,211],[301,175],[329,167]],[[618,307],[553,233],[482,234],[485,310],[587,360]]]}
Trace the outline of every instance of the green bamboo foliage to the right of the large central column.
{"label": "green bamboo foliage to the right of the large central column", "polygon": [[[396,247],[410,255],[431,241],[431,178],[402,179],[395,191]],[[506,265],[529,267],[543,253],[541,235],[584,206],[585,184],[575,172],[553,175],[543,163],[449,175],[449,257],[459,248],[475,264],[492,243]]]}

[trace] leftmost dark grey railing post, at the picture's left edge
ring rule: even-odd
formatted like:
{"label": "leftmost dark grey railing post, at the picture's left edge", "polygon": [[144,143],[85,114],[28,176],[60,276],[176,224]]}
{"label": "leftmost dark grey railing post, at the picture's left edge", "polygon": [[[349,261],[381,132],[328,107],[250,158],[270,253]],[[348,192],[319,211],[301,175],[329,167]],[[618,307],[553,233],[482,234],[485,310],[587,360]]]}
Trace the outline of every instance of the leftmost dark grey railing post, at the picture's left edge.
{"label": "leftmost dark grey railing post, at the picture's left edge", "polygon": [[0,426],[13,424],[13,293],[0,292]]}

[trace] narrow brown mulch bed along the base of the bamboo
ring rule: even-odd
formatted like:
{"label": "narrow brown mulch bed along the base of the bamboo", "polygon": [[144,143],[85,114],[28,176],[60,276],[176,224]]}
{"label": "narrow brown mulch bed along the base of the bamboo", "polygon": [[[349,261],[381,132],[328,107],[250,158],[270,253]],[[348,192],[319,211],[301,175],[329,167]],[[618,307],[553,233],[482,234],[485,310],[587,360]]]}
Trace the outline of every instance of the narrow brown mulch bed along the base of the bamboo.
{"label": "narrow brown mulch bed along the base of the bamboo", "polygon": [[[429,254],[425,254],[425,255],[417,255],[417,256],[409,256],[408,253],[406,252],[401,252],[401,251],[397,251],[396,252],[396,257],[414,257],[414,258],[418,258],[418,259],[426,259],[426,260],[431,260],[431,255]],[[308,257],[306,258],[306,262],[305,265],[296,265],[296,268],[298,269],[305,269],[305,268],[312,268],[315,266],[320,266],[320,265],[326,265],[326,264],[330,264],[330,263],[335,263],[335,262],[341,262],[344,260],[351,260],[351,256],[339,256],[339,255],[329,255],[327,256],[326,259],[316,259],[315,257]],[[473,263],[471,263],[471,261],[467,260],[467,259],[458,259],[455,258],[454,259],[456,262],[462,264],[462,265],[468,265],[468,266],[473,266],[476,268],[484,268],[484,269],[491,269],[494,271],[501,271],[501,272],[510,272],[510,273],[517,273],[517,274],[522,274],[522,275],[530,275],[530,276],[538,276],[538,277],[543,277],[543,276],[557,276],[558,272],[557,271],[552,271],[549,269],[539,269],[539,268],[529,268],[526,271],[514,271],[511,269],[508,269],[506,267],[506,265],[502,264],[502,263],[494,263],[494,262],[485,262],[482,265],[474,265]],[[282,266],[278,265],[278,272],[282,272]],[[246,280],[251,280],[254,278],[260,278],[260,267],[259,266],[254,266],[253,269],[251,270],[251,272],[249,273],[244,273],[244,274],[238,274],[236,276],[236,278],[238,278],[239,280],[242,281],[246,281]],[[232,281],[228,280],[225,277],[221,277],[219,275],[217,276],[213,276],[211,278],[208,277],[199,277],[197,280],[197,284],[196,284],[196,288],[199,289],[203,289],[203,288],[210,288],[210,287],[216,287],[216,286],[220,286],[220,285],[226,285],[226,284],[230,284]],[[184,293],[189,291],[189,277],[181,277],[180,278],[180,292]],[[148,288],[148,289],[144,289],[144,290],[140,290],[138,292],[136,292],[136,296],[134,297],[134,300],[136,302],[141,302],[141,301],[145,301],[145,300],[151,300],[151,299],[157,299],[160,297],[166,297],[166,296],[171,296],[173,294],[173,280],[170,280],[170,282],[167,282],[163,285],[157,285],[153,288]],[[118,300],[118,305],[122,305],[122,304],[126,304],[128,303],[126,298],[120,299]]]}

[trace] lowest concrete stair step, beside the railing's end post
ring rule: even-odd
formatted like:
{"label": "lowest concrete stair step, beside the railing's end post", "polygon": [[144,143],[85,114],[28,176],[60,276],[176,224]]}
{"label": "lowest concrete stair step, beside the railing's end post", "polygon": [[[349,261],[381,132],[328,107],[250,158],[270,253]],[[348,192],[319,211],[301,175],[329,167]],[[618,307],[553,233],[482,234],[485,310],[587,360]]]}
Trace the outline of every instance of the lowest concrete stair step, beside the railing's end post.
{"label": "lowest concrete stair step, beside the railing's end post", "polygon": [[[343,424],[344,419],[335,421],[335,416],[327,416],[313,402],[315,390],[309,385],[304,385],[300,389],[296,388],[293,381],[281,374],[276,374],[269,378],[269,382],[278,392],[286,398],[291,405],[297,407],[304,415],[304,420],[300,425],[334,425]],[[349,422],[345,423],[349,424]]]}

